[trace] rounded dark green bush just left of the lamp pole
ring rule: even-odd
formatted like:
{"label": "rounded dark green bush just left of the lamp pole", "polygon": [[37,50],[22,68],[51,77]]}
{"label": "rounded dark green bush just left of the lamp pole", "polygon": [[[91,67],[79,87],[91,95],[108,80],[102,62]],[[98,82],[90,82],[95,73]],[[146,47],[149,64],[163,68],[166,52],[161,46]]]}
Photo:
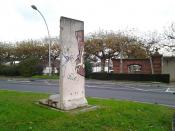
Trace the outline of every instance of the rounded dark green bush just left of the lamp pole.
{"label": "rounded dark green bush just left of the lamp pole", "polygon": [[19,63],[19,72],[22,76],[41,75],[42,71],[43,65],[38,58],[31,57]]}

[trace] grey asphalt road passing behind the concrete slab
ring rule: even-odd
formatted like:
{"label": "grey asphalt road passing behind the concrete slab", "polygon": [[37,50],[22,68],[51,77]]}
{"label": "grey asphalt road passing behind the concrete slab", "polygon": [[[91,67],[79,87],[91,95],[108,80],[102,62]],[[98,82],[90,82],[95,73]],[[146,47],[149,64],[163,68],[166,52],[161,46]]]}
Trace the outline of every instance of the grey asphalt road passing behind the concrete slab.
{"label": "grey asphalt road passing behind the concrete slab", "polygon": [[[116,98],[175,107],[175,94],[166,92],[174,85],[162,83],[114,82],[86,80],[86,96]],[[0,89],[58,93],[58,81],[0,80]]]}

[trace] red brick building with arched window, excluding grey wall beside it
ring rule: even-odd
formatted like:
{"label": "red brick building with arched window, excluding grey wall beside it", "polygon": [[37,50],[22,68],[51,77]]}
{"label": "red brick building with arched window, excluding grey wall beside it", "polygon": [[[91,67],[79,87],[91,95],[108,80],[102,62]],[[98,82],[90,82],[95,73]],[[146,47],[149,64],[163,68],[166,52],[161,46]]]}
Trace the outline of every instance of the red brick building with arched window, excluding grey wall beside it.
{"label": "red brick building with arched window, excluding grey wall beside it", "polygon": [[[162,55],[151,57],[154,74],[162,73]],[[112,59],[114,73],[151,74],[150,59]]]}

